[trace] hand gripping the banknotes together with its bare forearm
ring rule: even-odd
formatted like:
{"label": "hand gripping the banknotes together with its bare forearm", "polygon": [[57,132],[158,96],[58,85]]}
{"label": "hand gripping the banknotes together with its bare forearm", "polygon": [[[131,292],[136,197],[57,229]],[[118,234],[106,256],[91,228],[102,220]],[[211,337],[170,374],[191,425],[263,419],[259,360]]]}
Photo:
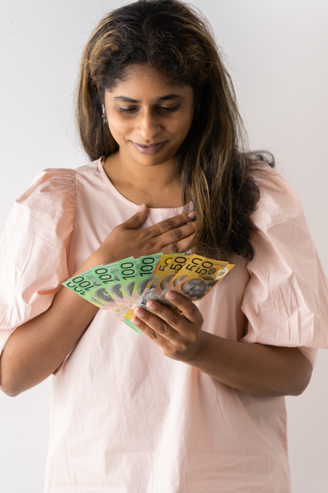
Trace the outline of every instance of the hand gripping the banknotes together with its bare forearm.
{"label": "hand gripping the banknotes together with its bare forearm", "polygon": [[172,291],[166,297],[184,316],[151,300],[147,308],[156,315],[138,306],[132,318],[165,356],[254,395],[299,395],[307,386],[312,365],[297,348],[245,344],[216,336],[202,330],[203,317],[197,306]]}

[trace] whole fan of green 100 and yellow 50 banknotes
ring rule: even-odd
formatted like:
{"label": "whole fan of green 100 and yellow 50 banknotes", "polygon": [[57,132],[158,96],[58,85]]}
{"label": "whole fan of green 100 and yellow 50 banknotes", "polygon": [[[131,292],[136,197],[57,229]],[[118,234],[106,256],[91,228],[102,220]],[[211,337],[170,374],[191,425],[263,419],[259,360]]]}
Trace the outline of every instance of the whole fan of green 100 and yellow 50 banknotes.
{"label": "whole fan of green 100 and yellow 50 banknotes", "polygon": [[[108,265],[98,265],[63,282],[71,291],[106,310],[133,330],[131,322],[136,305],[146,308],[150,299],[177,310],[165,298],[176,291],[193,303],[201,300],[234,267],[233,264],[200,255],[162,254],[128,257]],[[181,313],[179,311],[179,313]]]}

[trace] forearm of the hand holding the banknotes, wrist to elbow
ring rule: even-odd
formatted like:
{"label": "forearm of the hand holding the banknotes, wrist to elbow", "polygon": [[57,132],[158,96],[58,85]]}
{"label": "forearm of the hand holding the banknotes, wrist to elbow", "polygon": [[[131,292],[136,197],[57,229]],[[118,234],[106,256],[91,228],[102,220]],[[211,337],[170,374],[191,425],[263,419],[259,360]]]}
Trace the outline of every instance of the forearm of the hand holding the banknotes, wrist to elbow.
{"label": "forearm of the hand holding the banknotes, wrist to elbow", "polygon": [[299,395],[312,365],[297,348],[231,341],[203,331],[200,349],[188,364],[223,384],[254,395]]}

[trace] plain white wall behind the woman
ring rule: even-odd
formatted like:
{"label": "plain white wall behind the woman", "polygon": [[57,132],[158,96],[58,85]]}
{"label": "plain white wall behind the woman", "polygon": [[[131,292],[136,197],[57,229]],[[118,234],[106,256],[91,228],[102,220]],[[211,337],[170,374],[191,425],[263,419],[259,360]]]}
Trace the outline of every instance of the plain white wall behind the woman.
{"label": "plain white wall behind the woman", "polygon": [[[203,0],[233,76],[253,148],[271,150],[297,192],[328,273],[326,0]],[[75,137],[78,60],[94,23],[119,2],[6,1],[0,8],[0,230],[14,200],[44,168],[87,162]],[[328,484],[328,353],[287,397],[293,493]],[[49,379],[0,394],[0,490],[41,493]]]}

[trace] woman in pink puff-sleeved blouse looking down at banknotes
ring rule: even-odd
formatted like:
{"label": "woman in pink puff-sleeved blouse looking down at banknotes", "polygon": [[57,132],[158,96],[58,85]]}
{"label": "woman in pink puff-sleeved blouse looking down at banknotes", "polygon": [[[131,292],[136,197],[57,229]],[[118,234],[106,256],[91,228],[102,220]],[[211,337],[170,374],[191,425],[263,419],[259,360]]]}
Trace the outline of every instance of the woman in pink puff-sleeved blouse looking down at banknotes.
{"label": "woman in pink puff-sleeved blouse looking down at banknotes", "polygon": [[[55,374],[45,491],[289,492],[283,396],[327,347],[327,281],[297,197],[242,152],[206,21],[176,0],[109,13],[77,117],[93,162],[38,176],[1,240],[0,386]],[[168,292],[184,317],[137,307],[146,337],[60,289],[159,251],[236,267],[198,307]]]}

